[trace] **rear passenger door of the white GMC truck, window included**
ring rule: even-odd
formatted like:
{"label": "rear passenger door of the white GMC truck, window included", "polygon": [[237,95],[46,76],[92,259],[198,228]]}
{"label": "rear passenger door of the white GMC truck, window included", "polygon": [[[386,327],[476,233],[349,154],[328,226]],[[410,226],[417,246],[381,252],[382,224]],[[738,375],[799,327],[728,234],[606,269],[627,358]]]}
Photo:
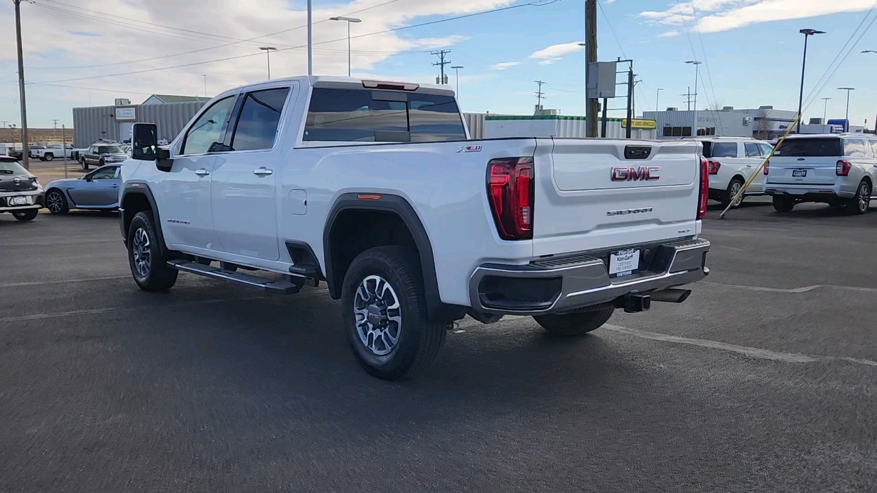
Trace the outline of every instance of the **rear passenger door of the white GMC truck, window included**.
{"label": "rear passenger door of the white GMC truck, window included", "polygon": [[276,261],[277,175],[282,148],[277,135],[283,109],[297,86],[241,95],[217,156],[210,204],[219,248],[228,254]]}

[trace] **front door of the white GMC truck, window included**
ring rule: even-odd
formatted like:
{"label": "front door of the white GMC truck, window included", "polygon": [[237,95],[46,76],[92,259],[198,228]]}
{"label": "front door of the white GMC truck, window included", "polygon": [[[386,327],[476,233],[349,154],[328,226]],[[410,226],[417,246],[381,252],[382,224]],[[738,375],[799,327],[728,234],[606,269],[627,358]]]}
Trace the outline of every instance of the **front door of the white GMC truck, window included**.
{"label": "front door of the white GMC truck, window included", "polygon": [[217,153],[224,150],[225,127],[237,95],[224,97],[203,111],[189,126],[174,166],[162,173],[160,202],[161,229],[172,245],[217,250],[210,210],[210,174]]}

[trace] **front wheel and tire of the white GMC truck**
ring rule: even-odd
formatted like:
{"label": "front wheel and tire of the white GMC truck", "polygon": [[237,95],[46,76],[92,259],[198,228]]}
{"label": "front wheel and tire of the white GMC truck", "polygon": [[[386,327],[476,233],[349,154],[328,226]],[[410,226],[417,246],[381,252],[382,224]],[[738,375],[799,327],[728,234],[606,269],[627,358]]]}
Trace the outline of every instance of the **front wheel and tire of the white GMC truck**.
{"label": "front wheel and tire of the white GMC truck", "polygon": [[128,228],[128,264],[134,282],[145,291],[166,291],[176,282],[179,272],[168,267],[149,211],[138,212]]}

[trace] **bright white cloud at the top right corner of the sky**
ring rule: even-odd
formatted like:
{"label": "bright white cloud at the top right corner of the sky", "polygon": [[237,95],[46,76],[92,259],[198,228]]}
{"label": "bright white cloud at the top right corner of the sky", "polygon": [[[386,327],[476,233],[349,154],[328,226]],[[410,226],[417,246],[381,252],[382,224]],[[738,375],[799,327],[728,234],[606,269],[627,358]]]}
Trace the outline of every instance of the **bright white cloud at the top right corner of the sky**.
{"label": "bright white cloud at the top right corner of the sky", "polygon": [[701,32],[723,32],[776,20],[867,11],[872,6],[873,0],[692,0],[639,16],[658,25],[692,23],[689,27],[697,19]]}

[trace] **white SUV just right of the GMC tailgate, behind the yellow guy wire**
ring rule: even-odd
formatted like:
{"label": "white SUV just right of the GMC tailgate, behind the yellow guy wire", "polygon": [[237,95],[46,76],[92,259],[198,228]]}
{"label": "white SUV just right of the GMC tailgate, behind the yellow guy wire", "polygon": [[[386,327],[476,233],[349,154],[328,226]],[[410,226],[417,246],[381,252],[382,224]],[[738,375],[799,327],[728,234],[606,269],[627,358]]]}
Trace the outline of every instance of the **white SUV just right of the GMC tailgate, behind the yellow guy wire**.
{"label": "white SUV just right of the GMC tailgate, behind the yellow guy wire", "polygon": [[[709,160],[709,198],[721,202],[723,207],[731,204],[731,198],[758,171],[761,161],[774,148],[763,140],[745,137],[707,137],[697,140],[703,144],[703,157]],[[758,175],[746,189],[746,195],[764,195],[764,191],[764,176]]]}

